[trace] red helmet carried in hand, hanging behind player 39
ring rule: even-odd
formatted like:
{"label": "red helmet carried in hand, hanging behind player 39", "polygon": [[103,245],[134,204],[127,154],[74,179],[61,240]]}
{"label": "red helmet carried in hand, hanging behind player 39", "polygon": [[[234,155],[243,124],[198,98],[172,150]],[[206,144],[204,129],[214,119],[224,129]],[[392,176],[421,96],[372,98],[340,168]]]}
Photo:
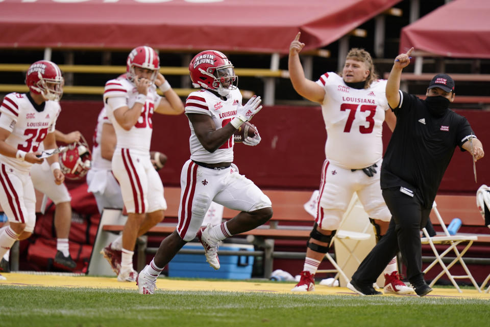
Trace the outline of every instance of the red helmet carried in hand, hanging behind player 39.
{"label": "red helmet carried in hand, hanging behind player 39", "polygon": [[81,142],[68,145],[68,150],[60,158],[61,172],[69,180],[80,180],[85,177],[92,166],[92,154],[84,138]]}

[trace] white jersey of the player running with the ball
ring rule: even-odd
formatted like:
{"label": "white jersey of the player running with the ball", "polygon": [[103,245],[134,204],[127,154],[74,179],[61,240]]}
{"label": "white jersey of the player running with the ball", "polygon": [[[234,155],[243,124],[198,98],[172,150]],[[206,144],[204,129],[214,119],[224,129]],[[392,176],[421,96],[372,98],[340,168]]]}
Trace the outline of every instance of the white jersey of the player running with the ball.
{"label": "white jersey of the player running with the ball", "polygon": [[[226,101],[207,90],[195,91],[189,94],[185,101],[185,114],[204,114],[211,116],[216,129],[224,127],[236,116],[236,108],[241,105],[241,93],[238,89],[232,90]],[[205,163],[232,162],[233,161],[233,135],[213,153],[206,150],[190,126],[190,158]]]}

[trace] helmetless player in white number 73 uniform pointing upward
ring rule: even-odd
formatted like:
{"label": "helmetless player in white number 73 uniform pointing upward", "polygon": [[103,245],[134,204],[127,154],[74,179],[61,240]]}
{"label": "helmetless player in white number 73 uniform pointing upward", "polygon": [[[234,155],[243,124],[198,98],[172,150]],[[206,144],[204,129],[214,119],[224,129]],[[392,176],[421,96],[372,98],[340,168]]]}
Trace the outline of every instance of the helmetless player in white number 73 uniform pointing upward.
{"label": "helmetless player in white number 73 uniform pointing upward", "polygon": [[[351,49],[341,73],[328,72],[314,82],[305,77],[300,62],[299,52],[305,46],[300,35],[289,47],[291,83],[301,96],[322,105],[327,129],[315,224],[307,243],[301,280],[292,289],[312,291],[314,274],[354,192],[371,217],[377,238],[387,230],[391,214],[381,195],[381,137],[383,121],[393,130],[396,117],[388,110],[386,80],[378,79],[368,52]],[[385,291],[413,292],[399,279],[396,257],[385,269]]]}

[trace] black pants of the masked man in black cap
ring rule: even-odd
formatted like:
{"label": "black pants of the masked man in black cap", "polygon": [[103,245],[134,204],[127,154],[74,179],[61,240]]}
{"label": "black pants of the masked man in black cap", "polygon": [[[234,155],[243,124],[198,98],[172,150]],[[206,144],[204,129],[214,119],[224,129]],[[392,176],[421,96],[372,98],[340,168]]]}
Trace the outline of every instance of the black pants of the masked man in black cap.
{"label": "black pants of the masked man in black cap", "polygon": [[375,283],[389,261],[400,251],[410,283],[421,282],[424,274],[420,229],[427,225],[431,209],[422,208],[416,196],[401,193],[400,187],[383,189],[383,198],[391,212],[388,230],[361,262],[352,279],[361,284]]}

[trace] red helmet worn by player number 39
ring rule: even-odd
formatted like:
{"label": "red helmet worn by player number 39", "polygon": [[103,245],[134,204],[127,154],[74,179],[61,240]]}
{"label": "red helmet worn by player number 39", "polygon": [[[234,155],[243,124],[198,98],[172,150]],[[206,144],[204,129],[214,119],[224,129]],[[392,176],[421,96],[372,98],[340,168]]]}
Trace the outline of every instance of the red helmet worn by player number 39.
{"label": "red helmet worn by player number 39", "polygon": [[63,76],[55,63],[39,60],[32,64],[26,74],[26,85],[34,94],[42,94],[46,100],[59,101],[63,95]]}

